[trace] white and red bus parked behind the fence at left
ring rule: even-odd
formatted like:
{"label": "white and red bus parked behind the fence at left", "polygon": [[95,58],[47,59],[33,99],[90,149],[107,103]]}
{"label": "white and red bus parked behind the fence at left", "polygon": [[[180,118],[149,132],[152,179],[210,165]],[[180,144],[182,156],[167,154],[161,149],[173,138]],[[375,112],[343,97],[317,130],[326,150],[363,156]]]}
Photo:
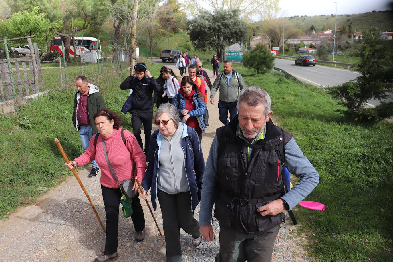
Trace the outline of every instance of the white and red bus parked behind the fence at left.
{"label": "white and red bus parked behind the fence at left", "polygon": [[[61,55],[63,55],[63,48],[61,45],[61,37],[54,37],[51,45],[50,45],[50,50],[52,52],[57,51],[60,52]],[[105,42],[101,41],[101,43],[103,43],[103,46],[105,46]],[[95,37],[75,37],[75,49],[76,49],[76,53],[74,52],[74,47],[72,46],[73,44],[73,38],[71,38],[71,43],[70,43],[70,57],[73,57],[74,55],[76,55],[77,57],[81,56],[81,53],[88,53],[91,52],[92,50],[96,50],[97,49],[97,44],[98,44],[98,40]],[[96,52],[94,52],[96,53]],[[95,57],[97,57],[95,55]]]}

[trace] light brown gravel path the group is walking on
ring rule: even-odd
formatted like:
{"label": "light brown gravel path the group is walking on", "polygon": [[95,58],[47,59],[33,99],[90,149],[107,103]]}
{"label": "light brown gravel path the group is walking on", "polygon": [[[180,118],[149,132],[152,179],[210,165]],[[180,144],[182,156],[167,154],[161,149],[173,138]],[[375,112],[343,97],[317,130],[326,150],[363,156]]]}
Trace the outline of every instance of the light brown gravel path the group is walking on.
{"label": "light brown gravel path the group is walking on", "polygon": [[[165,63],[165,65],[174,68],[173,64]],[[213,75],[212,70],[207,71],[209,75]],[[214,78],[211,80],[213,82]],[[218,101],[218,95],[216,100]],[[221,126],[218,120],[217,104],[213,106],[208,103],[208,109],[210,126],[206,128],[206,133],[202,136],[205,160],[208,157],[215,130]],[[95,178],[88,178],[89,171],[90,165],[78,170],[78,174],[105,224],[105,210],[99,184],[101,173]],[[149,197],[148,201],[150,204]],[[146,238],[139,243],[134,240],[135,230],[131,219],[124,218],[120,210],[118,261],[165,261],[165,240],[159,236],[146,203],[144,201],[141,203],[145,211]],[[154,215],[162,230],[159,205]],[[195,218],[198,218],[198,215],[199,205],[195,211]],[[220,229],[217,221],[213,229],[215,231],[213,241],[202,240],[198,248],[192,246],[191,236],[181,230],[183,261],[214,261],[219,249]],[[296,236],[292,232],[294,230],[296,227],[289,218],[286,224],[281,225],[272,261],[310,261],[307,258],[307,251],[301,246],[305,238]],[[7,221],[0,222],[0,252],[2,254],[0,261],[90,262],[94,261],[97,254],[103,252],[104,246],[105,233],[73,176],[44,194],[36,205],[22,207],[11,214]]]}

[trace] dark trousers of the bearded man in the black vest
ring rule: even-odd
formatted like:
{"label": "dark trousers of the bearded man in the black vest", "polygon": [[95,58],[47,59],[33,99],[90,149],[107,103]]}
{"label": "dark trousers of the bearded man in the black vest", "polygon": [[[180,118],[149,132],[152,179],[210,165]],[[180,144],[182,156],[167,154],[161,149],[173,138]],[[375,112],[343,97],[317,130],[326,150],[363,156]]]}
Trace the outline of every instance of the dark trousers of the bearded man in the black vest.
{"label": "dark trousers of the bearded man in the black vest", "polygon": [[220,225],[220,251],[216,262],[269,262],[280,225],[272,229],[245,234]]}

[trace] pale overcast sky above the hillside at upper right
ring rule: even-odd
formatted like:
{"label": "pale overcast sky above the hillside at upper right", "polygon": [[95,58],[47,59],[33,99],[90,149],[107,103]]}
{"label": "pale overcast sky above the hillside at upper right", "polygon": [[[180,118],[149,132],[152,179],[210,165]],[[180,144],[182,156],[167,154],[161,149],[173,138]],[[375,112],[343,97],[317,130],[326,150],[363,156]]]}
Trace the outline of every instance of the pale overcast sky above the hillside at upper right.
{"label": "pale overcast sky above the hillside at upper right", "polygon": [[389,3],[392,0],[279,0],[279,7],[281,8],[280,16],[295,16],[295,15],[330,15],[336,13],[337,15],[350,15],[371,12],[373,10],[389,10]]}

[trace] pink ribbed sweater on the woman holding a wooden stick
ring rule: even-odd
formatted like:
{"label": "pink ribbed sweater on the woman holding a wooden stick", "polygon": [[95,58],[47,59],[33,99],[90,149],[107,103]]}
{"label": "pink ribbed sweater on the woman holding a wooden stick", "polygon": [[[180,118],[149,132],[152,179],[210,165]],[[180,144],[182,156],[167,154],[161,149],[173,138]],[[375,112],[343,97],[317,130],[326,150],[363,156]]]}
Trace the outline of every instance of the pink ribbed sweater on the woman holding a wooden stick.
{"label": "pink ribbed sweater on the woman holding a wooden stick", "polygon": [[[112,134],[108,137],[104,137],[109,163],[112,165],[119,182],[121,182],[132,177],[132,165],[135,161],[136,177],[138,177],[138,180],[142,182],[147,168],[145,154],[139,146],[138,141],[136,141],[135,136],[128,130],[124,130],[126,143],[124,145],[120,131],[121,128],[117,130],[114,129]],[[95,148],[94,137],[95,136],[90,139],[87,150],[74,160],[77,161],[78,167],[81,167],[95,159],[101,169],[101,178],[99,180],[101,185],[109,188],[118,188],[119,185],[112,175],[112,172],[110,172],[107,161],[105,160],[105,154],[102,147],[103,136],[98,134],[97,145]]]}

